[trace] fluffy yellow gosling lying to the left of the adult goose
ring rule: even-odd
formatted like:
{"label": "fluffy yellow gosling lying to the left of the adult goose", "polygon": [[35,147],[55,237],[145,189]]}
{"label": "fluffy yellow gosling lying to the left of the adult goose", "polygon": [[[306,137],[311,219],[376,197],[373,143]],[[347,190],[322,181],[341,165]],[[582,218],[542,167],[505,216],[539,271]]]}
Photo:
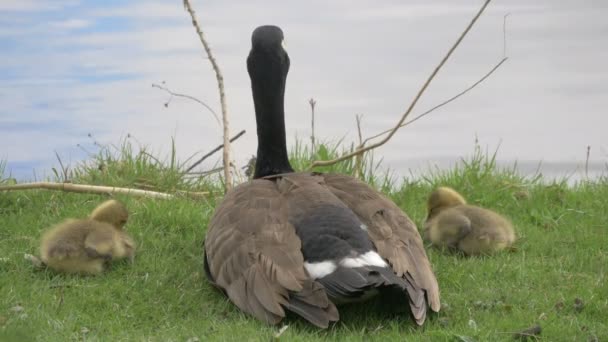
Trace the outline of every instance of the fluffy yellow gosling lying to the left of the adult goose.
{"label": "fluffy yellow gosling lying to the left of the adult goose", "polygon": [[42,262],[60,272],[99,274],[112,260],[133,261],[135,243],[123,231],[128,215],[122,203],[109,200],[87,219],[59,223],[42,236]]}

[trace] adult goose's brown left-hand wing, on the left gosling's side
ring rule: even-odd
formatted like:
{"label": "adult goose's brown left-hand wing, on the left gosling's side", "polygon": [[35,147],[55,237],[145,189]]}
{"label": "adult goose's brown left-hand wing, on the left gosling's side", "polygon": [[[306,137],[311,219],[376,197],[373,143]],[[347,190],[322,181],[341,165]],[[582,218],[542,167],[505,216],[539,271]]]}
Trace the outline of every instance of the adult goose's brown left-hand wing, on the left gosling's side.
{"label": "adult goose's brown left-hand wing, on the left gosling's side", "polygon": [[217,207],[205,237],[205,270],[241,310],[260,320],[276,324],[286,308],[327,327],[338,311],[308,277],[300,249],[275,182],[253,180]]}

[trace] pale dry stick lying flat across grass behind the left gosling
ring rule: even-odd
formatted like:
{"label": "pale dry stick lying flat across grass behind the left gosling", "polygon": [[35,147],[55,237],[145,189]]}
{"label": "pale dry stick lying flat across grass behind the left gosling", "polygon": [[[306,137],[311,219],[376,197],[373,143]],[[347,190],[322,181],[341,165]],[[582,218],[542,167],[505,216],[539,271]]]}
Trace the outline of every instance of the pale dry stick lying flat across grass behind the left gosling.
{"label": "pale dry stick lying flat across grass behind the left gosling", "polygon": [[162,192],[130,189],[130,188],[117,188],[113,186],[100,186],[100,185],[86,185],[86,184],[72,184],[72,183],[52,183],[52,182],[36,182],[36,183],[22,183],[15,185],[0,186],[0,191],[11,191],[11,190],[29,190],[29,189],[46,189],[46,190],[61,190],[68,192],[80,192],[90,194],[127,194],[141,197],[151,198],[173,198],[173,195]]}

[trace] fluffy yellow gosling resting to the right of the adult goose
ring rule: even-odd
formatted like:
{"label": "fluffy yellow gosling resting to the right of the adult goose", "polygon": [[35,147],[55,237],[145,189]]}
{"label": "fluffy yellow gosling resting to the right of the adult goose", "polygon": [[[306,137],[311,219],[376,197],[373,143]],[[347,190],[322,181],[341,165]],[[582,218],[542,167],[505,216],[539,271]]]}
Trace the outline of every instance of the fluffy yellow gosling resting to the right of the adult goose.
{"label": "fluffy yellow gosling resting to the right of the adult goose", "polygon": [[454,189],[439,187],[427,203],[424,238],[440,248],[467,255],[491,254],[515,241],[511,223],[499,214],[468,205]]}

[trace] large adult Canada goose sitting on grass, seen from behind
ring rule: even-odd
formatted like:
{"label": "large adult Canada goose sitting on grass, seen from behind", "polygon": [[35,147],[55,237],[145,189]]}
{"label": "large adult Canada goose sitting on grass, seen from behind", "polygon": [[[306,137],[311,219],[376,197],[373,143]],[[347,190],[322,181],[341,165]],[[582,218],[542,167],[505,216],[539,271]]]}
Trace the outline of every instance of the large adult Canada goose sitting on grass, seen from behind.
{"label": "large adult Canada goose sitting on grass, seen from behind", "polygon": [[241,310],[276,324],[292,311],[326,328],[335,304],[389,295],[423,324],[439,289],[415,224],[360,180],[294,173],[283,99],[289,56],[276,26],[253,31],[247,70],[258,151],[254,179],[226,194],[204,242],[208,279]]}

